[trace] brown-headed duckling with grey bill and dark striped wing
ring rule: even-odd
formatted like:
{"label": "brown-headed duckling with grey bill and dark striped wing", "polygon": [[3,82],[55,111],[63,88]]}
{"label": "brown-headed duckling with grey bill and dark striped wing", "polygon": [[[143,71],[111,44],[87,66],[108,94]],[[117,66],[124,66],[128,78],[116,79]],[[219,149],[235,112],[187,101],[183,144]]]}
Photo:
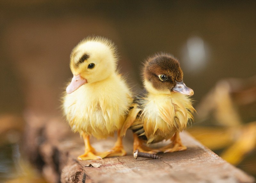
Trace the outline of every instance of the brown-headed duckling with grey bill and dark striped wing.
{"label": "brown-headed duckling with grey bill and dark striped wing", "polygon": [[[170,54],[157,53],[146,60],[142,76],[146,94],[135,97],[122,129],[132,129],[133,149],[147,153],[186,150],[179,133],[193,120],[190,96],[194,91],[183,82],[179,61]],[[159,149],[147,146],[169,139],[171,144]]]}

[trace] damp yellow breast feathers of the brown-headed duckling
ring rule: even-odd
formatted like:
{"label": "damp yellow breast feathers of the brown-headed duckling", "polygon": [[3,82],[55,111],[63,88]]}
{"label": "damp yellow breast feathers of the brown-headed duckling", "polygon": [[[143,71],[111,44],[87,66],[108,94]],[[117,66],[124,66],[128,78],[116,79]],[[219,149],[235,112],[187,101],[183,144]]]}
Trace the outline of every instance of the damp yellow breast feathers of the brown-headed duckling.
{"label": "damp yellow breast feathers of the brown-headed duckling", "polygon": [[170,139],[187,127],[194,111],[188,96],[182,94],[148,95],[135,124],[141,123],[147,143]]}

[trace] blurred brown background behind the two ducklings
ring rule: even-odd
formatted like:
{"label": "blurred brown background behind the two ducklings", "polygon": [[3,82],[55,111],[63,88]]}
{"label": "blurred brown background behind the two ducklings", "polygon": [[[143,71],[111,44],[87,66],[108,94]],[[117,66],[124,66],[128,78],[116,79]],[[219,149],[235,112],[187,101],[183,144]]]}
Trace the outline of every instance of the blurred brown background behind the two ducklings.
{"label": "blurred brown background behind the two ducklings", "polygon": [[61,118],[69,54],[88,35],[116,43],[135,93],[145,58],[179,58],[198,112],[188,131],[256,176],[255,10],[256,1],[0,1],[0,179],[34,176],[20,150],[26,122]]}

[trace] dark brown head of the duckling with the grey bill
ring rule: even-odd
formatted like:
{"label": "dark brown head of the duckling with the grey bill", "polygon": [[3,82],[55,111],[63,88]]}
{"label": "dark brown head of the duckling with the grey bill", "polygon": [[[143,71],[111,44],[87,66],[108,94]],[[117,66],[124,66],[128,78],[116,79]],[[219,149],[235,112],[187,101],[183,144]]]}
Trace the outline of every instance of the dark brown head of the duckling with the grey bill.
{"label": "dark brown head of the duckling with the grey bill", "polygon": [[194,91],[183,82],[183,71],[179,61],[170,54],[158,53],[148,57],[143,69],[144,86],[150,93],[177,92],[194,95]]}

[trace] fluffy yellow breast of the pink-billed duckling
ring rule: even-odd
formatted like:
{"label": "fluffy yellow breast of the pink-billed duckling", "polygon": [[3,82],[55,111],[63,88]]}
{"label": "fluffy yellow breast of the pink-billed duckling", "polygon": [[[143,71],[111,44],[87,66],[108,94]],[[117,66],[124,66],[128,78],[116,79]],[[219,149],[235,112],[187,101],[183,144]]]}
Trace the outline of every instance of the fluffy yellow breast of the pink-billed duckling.
{"label": "fluffy yellow breast of the pink-billed duckling", "polygon": [[102,139],[122,127],[132,99],[122,82],[112,83],[113,87],[109,87],[109,83],[98,84],[85,84],[66,95],[63,106],[74,132]]}

